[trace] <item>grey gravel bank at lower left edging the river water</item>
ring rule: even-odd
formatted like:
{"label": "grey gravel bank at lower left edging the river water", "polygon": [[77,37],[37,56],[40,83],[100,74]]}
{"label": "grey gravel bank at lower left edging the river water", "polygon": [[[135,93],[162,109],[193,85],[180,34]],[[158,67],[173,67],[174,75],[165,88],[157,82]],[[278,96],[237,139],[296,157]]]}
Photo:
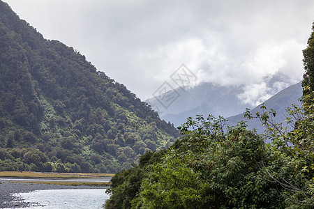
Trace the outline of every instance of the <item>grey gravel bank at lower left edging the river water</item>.
{"label": "grey gravel bank at lower left edging the river water", "polygon": [[45,189],[107,189],[108,187],[91,187],[87,185],[42,185],[30,183],[1,183],[0,182],[0,208],[26,208],[38,206],[36,203],[26,203],[22,199],[12,196],[14,193],[32,192]]}

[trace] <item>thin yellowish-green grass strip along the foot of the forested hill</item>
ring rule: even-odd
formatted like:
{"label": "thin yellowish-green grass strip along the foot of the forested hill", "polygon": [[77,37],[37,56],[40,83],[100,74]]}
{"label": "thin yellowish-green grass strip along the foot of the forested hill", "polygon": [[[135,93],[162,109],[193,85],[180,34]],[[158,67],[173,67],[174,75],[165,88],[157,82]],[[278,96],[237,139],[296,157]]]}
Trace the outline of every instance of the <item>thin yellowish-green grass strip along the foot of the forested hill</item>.
{"label": "thin yellowish-green grass strip along the foot of the forested hill", "polygon": [[101,178],[112,177],[113,173],[38,173],[31,171],[1,171],[0,177],[20,177],[20,178]]}

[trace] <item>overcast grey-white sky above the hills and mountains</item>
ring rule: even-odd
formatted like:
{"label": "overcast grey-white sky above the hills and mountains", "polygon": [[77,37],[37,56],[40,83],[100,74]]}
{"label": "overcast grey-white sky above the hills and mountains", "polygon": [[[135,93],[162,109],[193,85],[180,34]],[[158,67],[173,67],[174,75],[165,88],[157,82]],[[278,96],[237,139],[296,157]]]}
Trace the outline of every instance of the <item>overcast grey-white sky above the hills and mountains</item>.
{"label": "overcast grey-white sky above the hills and mountains", "polygon": [[142,100],[182,63],[197,82],[245,84],[245,102],[268,98],[272,77],[285,77],[278,89],[301,81],[314,22],[311,0],[4,1]]}

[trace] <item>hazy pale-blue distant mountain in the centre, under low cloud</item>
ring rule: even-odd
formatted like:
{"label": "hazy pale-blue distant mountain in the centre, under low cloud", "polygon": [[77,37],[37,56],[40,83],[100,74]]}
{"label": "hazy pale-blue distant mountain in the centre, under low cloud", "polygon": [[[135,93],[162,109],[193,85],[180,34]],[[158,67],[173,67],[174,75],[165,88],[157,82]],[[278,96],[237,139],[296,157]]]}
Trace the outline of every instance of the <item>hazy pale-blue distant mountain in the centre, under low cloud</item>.
{"label": "hazy pale-blue distant mountain in the centre, under low cloud", "polygon": [[248,104],[243,104],[237,98],[241,93],[241,86],[202,83],[193,88],[177,88],[175,91],[179,93],[179,97],[167,109],[160,105],[156,98],[151,98],[147,102],[152,107],[158,107],[160,118],[174,123],[176,127],[185,123],[189,116],[196,114],[228,117],[239,114],[248,107]]}

